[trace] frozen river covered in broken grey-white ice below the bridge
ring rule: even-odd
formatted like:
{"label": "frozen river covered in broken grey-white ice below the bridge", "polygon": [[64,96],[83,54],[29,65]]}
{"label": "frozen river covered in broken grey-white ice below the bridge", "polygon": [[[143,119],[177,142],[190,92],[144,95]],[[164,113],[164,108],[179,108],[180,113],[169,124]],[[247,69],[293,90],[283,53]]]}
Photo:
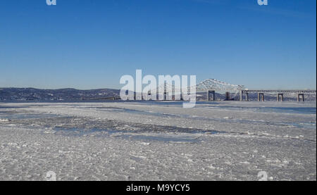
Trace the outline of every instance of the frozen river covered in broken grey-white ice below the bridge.
{"label": "frozen river covered in broken grey-white ice below the bridge", "polygon": [[316,180],[316,102],[0,103],[0,180]]}

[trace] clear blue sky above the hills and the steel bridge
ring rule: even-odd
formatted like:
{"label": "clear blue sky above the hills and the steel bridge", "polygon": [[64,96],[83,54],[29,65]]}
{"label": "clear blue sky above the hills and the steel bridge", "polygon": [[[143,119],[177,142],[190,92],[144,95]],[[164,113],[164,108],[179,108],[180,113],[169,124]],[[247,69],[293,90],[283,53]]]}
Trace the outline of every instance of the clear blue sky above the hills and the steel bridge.
{"label": "clear blue sky above the hills and the steel bridge", "polygon": [[137,68],[316,89],[316,1],[1,1],[0,87],[120,89]]}

